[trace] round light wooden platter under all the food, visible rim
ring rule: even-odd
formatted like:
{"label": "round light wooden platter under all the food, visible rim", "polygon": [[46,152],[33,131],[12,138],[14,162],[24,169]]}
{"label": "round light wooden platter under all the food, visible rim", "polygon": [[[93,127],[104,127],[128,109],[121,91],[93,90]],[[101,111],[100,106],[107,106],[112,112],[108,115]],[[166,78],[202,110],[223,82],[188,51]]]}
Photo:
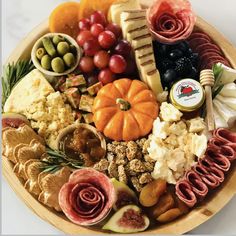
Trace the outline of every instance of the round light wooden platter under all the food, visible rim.
{"label": "round light wooden platter under all the food, visible rim", "polygon": [[[143,5],[148,5],[152,1],[141,0]],[[236,49],[233,45],[214,27],[209,25],[203,19],[198,17],[196,27],[207,32],[211,38],[221,47],[222,51],[230,61],[231,65],[236,68]],[[48,22],[45,21],[36,27],[27,37],[16,47],[10,55],[8,62],[17,61],[18,59],[29,58],[31,48],[34,42],[43,34],[48,32]],[[59,230],[67,234],[101,234],[101,230],[96,228],[85,228],[70,222],[64,214],[58,213],[34,198],[25,188],[23,183],[13,172],[13,165],[6,159],[2,159],[3,174],[11,185],[16,194],[24,203],[32,209],[39,217],[54,225]],[[143,233],[150,234],[183,234],[186,233],[205,221],[209,220],[214,214],[219,212],[236,193],[236,171],[235,164],[231,167],[230,173],[226,176],[224,183],[214,190],[209,196],[189,214],[164,225],[157,225]]]}

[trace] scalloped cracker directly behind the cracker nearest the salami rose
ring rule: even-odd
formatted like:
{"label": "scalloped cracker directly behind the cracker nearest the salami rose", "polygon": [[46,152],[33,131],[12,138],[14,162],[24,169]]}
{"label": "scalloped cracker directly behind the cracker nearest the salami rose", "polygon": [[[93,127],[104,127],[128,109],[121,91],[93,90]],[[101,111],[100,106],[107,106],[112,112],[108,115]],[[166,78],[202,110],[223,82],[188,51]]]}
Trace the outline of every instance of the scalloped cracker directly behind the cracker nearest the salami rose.
{"label": "scalloped cracker directly behind the cracker nearest the salami rose", "polygon": [[25,162],[25,175],[27,178],[25,188],[36,196],[41,193],[41,189],[38,184],[38,176],[42,172],[43,166],[44,164],[41,161],[35,159]]}

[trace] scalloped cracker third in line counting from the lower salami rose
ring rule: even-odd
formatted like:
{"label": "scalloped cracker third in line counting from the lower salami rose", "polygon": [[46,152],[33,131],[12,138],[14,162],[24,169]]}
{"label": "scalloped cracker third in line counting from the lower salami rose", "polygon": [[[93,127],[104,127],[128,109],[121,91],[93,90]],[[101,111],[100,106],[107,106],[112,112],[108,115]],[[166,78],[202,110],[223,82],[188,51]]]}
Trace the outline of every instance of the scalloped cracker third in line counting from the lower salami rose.
{"label": "scalloped cracker third in line counting from the lower salami rose", "polygon": [[39,143],[37,140],[31,140],[30,144],[19,144],[16,148],[15,159],[17,161],[13,171],[17,176],[27,179],[25,174],[25,163],[28,160],[39,159],[43,153],[45,153],[45,146]]}

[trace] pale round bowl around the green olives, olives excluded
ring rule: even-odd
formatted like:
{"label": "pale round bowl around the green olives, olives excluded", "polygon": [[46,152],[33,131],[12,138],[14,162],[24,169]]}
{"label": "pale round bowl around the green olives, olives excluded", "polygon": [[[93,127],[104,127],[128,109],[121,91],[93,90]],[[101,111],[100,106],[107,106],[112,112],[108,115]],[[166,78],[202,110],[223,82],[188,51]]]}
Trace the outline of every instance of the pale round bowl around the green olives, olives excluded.
{"label": "pale round bowl around the green olives, olives excluded", "polygon": [[[38,58],[36,57],[36,51],[38,48],[42,47],[43,46],[43,43],[42,43],[42,39],[45,38],[45,37],[50,37],[52,38],[53,36],[56,36],[56,35],[60,35],[62,37],[64,37],[70,44],[72,44],[73,46],[75,46],[76,48],[76,51],[77,51],[77,54],[75,55],[76,56],[76,62],[75,62],[75,65],[68,69],[68,70],[65,70],[63,73],[57,73],[57,72],[54,72],[54,71],[49,71],[49,70],[45,70]],[[48,76],[61,76],[61,75],[67,75],[67,74],[70,74],[72,71],[74,71],[76,69],[76,67],[78,66],[79,64],[79,61],[80,61],[80,58],[81,58],[81,55],[82,55],[82,49],[78,46],[77,42],[72,38],[70,37],[69,35],[67,34],[61,34],[61,33],[48,33],[48,34],[45,34],[43,35],[41,38],[39,38],[36,43],[34,44],[33,48],[32,48],[32,51],[31,51],[31,60],[32,62],[34,63],[35,67],[40,70],[42,73],[44,73],[45,75],[48,75]]]}

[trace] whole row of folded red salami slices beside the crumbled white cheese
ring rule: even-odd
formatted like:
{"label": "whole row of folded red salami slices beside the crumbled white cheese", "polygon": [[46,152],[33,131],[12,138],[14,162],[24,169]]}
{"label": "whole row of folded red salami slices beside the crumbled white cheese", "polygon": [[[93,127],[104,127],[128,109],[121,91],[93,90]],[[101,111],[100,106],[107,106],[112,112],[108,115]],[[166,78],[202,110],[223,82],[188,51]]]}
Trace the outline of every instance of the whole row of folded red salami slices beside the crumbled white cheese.
{"label": "whole row of folded red salami slices beside the crumbled white cheese", "polygon": [[189,207],[204,199],[209,189],[219,186],[236,159],[236,133],[225,128],[213,132],[205,155],[175,186],[178,198]]}

